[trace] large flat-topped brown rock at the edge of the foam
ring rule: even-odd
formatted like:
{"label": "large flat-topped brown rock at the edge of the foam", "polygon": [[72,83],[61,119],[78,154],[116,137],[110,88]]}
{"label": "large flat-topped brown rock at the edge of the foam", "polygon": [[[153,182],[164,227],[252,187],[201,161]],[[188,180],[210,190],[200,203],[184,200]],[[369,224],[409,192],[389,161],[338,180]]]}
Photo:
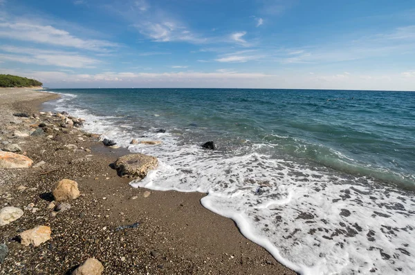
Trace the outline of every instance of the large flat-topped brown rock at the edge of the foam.
{"label": "large flat-topped brown rock at the edge of the foam", "polygon": [[125,178],[145,178],[151,169],[156,169],[158,164],[157,158],[151,155],[135,153],[124,155],[114,163],[118,175]]}

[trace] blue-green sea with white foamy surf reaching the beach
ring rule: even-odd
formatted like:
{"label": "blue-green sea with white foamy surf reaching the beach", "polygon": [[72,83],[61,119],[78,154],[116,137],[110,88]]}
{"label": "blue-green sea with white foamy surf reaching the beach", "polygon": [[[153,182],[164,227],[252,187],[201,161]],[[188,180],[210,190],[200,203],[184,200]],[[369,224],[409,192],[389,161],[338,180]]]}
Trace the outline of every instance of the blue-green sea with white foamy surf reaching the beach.
{"label": "blue-green sea with white foamy surf reaching the beach", "polygon": [[206,193],[203,207],[299,274],[415,272],[415,93],[46,91],[62,97],[44,108],[158,158],[131,187]]}

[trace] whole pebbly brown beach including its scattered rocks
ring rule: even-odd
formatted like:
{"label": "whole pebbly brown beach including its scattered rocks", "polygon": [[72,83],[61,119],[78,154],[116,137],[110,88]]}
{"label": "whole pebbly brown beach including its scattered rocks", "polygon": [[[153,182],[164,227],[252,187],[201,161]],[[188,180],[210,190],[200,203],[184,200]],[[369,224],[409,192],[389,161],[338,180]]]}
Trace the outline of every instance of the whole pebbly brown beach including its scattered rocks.
{"label": "whole pebbly brown beach including its scattered rocks", "polygon": [[130,187],[156,158],[39,112],[56,97],[0,89],[0,274],[295,274],[204,194]]}

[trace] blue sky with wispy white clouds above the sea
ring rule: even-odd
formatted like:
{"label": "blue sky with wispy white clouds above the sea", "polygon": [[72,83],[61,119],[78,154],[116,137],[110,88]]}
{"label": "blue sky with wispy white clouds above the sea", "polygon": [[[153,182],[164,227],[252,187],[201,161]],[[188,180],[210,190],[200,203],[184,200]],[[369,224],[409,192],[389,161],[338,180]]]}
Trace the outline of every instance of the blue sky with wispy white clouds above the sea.
{"label": "blue sky with wispy white clouds above the sea", "polygon": [[50,88],[415,91],[415,1],[0,0],[0,73]]}

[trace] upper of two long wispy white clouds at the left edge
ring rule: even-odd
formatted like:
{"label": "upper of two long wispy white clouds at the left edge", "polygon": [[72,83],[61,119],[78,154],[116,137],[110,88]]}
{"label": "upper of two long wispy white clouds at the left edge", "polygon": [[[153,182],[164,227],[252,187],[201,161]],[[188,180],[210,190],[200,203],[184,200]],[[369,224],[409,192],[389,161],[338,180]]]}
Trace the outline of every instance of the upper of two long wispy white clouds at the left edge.
{"label": "upper of two long wispy white clouds at the left edge", "polygon": [[0,37],[98,52],[105,52],[119,46],[110,41],[81,39],[71,35],[66,30],[35,21],[0,21]]}

